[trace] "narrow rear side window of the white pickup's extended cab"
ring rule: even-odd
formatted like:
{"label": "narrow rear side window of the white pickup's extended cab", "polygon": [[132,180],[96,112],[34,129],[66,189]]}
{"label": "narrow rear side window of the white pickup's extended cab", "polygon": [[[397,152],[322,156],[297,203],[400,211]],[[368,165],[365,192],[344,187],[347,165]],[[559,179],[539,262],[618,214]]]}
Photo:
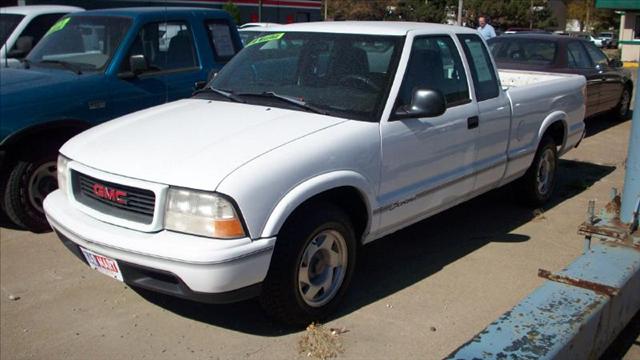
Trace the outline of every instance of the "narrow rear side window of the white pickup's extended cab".
{"label": "narrow rear side window of the white pickup's extended cab", "polygon": [[476,98],[483,101],[500,94],[498,79],[491,64],[489,52],[478,35],[458,35],[464,54],[469,61],[471,77],[476,90]]}

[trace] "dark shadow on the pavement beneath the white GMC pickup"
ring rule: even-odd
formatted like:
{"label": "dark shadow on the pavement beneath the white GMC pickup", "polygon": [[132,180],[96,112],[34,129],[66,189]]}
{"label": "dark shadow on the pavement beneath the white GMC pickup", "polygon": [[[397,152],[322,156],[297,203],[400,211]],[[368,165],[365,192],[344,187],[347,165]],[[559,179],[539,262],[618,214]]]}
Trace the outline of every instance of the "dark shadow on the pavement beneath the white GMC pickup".
{"label": "dark shadow on the pavement beneath the white GMC pickup", "polygon": [[[560,160],[559,165],[555,195],[544,209],[517,205],[511,188],[504,187],[362,247],[351,289],[333,318],[401,291],[492,241],[528,241],[528,236],[511,231],[533,220],[540,212],[583,192],[615,170],[612,166],[570,160]],[[178,315],[215,326],[262,336],[281,336],[296,331],[269,320],[256,300],[204,305],[136,291],[148,301]]]}

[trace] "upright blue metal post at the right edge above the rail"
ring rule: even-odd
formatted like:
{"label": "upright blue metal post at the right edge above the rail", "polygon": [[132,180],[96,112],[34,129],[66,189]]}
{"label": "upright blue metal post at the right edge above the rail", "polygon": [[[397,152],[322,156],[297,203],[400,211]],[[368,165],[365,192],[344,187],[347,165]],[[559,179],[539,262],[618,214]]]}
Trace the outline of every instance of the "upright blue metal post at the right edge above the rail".
{"label": "upright blue metal post at the right edge above the rail", "polygon": [[[638,204],[640,201],[640,69],[636,79],[635,105],[633,119],[631,120],[631,134],[629,135],[629,149],[627,150],[627,170],[624,178],[624,191],[622,192],[622,208],[620,220],[624,223],[633,223],[637,226]],[[634,216],[635,213],[635,216]]]}

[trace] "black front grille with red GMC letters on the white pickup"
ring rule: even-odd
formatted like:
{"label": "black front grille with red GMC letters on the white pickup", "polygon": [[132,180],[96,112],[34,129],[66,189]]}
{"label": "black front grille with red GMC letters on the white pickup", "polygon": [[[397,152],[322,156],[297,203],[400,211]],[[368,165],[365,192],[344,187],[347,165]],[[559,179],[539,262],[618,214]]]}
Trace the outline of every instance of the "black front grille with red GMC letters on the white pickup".
{"label": "black front grille with red GMC letters on the white pickup", "polygon": [[[114,184],[75,170],[71,170],[71,185],[76,201],[96,211],[143,224],[153,221],[156,196],[151,190]],[[102,196],[96,194],[95,187]],[[116,199],[115,191],[126,195]]]}

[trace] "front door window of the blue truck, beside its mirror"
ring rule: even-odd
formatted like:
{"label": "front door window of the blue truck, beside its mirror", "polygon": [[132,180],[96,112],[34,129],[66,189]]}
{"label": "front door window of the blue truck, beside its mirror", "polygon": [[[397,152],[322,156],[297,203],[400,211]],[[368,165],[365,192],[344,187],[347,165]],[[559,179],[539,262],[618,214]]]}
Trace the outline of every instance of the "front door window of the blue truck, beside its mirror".
{"label": "front door window of the blue truck, beside its mirror", "polygon": [[185,22],[146,24],[133,41],[121,71],[129,71],[129,58],[144,55],[147,72],[192,69],[198,66],[193,35]]}

